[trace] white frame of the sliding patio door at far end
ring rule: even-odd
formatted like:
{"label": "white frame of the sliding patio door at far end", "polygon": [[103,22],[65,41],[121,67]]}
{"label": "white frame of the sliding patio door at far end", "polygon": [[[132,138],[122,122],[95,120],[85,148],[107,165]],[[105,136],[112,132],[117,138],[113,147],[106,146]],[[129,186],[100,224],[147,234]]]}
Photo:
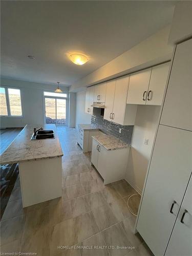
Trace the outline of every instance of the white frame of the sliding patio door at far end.
{"label": "white frame of the sliding patio door at far end", "polygon": [[[46,124],[46,104],[45,104],[45,98],[51,98],[51,99],[66,99],[66,126],[69,124],[69,92],[62,92],[63,94],[67,94],[67,97],[56,97],[56,96],[46,96],[44,95],[44,92],[50,92],[54,93],[54,91],[51,90],[42,90],[42,101],[43,101],[43,111],[44,111],[44,124]],[[55,125],[63,125],[63,124],[55,124]]]}

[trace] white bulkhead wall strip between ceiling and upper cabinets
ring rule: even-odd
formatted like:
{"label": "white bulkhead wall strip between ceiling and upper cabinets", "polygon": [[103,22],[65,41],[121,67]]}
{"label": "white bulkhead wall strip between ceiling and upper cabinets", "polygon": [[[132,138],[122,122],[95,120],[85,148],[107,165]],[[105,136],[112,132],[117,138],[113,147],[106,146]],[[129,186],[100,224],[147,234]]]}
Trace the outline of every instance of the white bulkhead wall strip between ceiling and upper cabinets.
{"label": "white bulkhead wall strip between ceiling and upper cabinets", "polygon": [[167,44],[169,30],[170,26],[161,29],[129,51],[78,80],[72,84],[70,92],[170,60],[173,46]]}

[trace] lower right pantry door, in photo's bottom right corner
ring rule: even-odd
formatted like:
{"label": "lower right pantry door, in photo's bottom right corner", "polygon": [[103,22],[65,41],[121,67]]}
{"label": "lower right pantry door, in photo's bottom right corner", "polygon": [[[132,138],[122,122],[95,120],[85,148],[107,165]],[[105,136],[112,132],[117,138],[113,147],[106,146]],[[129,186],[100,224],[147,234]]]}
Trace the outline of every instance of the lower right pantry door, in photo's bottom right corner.
{"label": "lower right pantry door, in photo's bottom right corner", "polygon": [[[192,179],[190,178],[187,190],[179,215],[170,237],[168,247],[166,250],[166,256],[190,256],[192,255]],[[183,223],[181,223],[183,213]]]}

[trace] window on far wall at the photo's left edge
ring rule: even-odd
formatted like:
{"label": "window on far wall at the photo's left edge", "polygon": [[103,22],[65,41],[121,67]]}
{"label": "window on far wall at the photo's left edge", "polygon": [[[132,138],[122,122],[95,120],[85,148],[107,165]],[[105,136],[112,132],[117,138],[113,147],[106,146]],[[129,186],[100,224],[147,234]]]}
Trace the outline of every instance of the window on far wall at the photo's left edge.
{"label": "window on far wall at the photo's left edge", "polygon": [[1,87],[0,99],[1,116],[22,116],[22,102],[19,89]]}

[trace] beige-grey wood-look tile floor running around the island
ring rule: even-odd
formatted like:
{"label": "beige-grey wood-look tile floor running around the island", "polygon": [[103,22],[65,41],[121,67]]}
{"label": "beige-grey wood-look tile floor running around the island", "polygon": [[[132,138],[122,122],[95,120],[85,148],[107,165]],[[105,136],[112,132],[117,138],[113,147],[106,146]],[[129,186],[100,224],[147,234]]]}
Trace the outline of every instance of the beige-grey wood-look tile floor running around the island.
{"label": "beige-grey wood-look tile floor running around the island", "polygon": [[[75,129],[57,126],[57,131],[64,153],[62,197],[23,208],[18,179],[1,221],[1,252],[36,252],[38,256],[153,255],[139,234],[133,233],[136,217],[126,202],[136,191],[124,180],[104,186],[91,166],[91,154],[83,154],[77,145]],[[138,199],[132,201],[134,210],[138,203]]]}

